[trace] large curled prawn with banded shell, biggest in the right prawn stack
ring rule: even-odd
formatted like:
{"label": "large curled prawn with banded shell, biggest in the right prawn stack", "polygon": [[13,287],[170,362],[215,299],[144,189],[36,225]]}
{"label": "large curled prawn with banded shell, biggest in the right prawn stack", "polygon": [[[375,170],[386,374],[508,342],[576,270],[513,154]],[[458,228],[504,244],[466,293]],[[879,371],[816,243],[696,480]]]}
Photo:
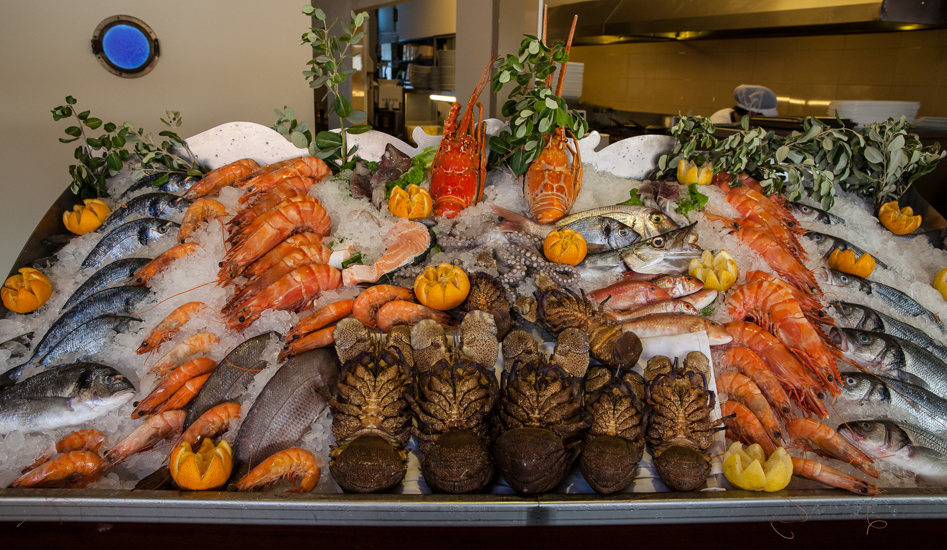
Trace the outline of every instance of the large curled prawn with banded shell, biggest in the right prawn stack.
{"label": "large curled prawn with banded shell, biggest in the right prawn stack", "polygon": [[835,395],[841,392],[835,363],[842,353],[826,344],[789,290],[768,281],[743,284],[730,295],[727,305],[734,318],[753,320],[776,335],[819,377],[823,387]]}

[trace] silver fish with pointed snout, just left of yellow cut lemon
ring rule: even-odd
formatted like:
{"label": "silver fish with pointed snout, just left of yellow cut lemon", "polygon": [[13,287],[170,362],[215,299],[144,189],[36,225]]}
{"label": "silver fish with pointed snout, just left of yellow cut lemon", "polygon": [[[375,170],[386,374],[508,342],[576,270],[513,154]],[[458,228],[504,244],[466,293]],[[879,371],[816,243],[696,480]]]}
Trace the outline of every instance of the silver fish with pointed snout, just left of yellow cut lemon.
{"label": "silver fish with pointed snout, just left of yellow cut lemon", "polygon": [[615,269],[638,273],[680,273],[687,270],[692,258],[700,256],[695,245],[694,226],[640,240],[622,249],[591,253],[585,256],[580,268]]}

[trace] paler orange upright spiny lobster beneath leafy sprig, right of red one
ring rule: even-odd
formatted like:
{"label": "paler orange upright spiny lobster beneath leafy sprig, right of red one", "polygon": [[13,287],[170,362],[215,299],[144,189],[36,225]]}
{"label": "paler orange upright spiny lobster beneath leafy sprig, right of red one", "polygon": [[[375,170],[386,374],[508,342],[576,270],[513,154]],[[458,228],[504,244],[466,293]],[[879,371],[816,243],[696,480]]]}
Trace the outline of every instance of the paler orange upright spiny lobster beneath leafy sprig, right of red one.
{"label": "paler orange upright spiny lobster beneath leafy sprig, right of red one", "polygon": [[[579,16],[572,19],[572,30],[569,31],[569,41],[565,44],[565,53],[572,47],[572,37],[576,31],[576,22]],[[544,36],[545,42],[545,25]],[[563,61],[559,70],[559,81],[556,83],[556,95],[562,95],[565,80],[565,66]],[[551,75],[547,83],[551,83]],[[569,132],[571,133],[571,132]],[[541,224],[554,223],[564,215],[569,214],[575,204],[582,187],[582,157],[579,153],[579,142],[576,147],[569,146],[565,137],[565,128],[558,127],[549,138],[539,157],[529,165],[524,180],[523,196],[527,200],[529,214]],[[572,164],[569,164],[569,155],[572,153]]]}

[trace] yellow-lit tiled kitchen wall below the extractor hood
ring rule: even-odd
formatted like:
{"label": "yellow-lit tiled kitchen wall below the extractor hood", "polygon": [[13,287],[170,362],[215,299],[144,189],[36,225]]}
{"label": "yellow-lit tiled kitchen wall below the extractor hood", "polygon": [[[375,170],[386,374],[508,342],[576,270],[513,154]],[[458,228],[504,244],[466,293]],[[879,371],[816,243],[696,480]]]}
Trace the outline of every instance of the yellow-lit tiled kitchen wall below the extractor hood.
{"label": "yellow-lit tiled kitchen wall below the extractor hood", "polygon": [[886,99],[947,116],[947,29],[576,46],[571,58],[585,63],[582,102],[622,111],[707,116],[733,107],[739,84],[759,84],[779,97],[779,114]]}

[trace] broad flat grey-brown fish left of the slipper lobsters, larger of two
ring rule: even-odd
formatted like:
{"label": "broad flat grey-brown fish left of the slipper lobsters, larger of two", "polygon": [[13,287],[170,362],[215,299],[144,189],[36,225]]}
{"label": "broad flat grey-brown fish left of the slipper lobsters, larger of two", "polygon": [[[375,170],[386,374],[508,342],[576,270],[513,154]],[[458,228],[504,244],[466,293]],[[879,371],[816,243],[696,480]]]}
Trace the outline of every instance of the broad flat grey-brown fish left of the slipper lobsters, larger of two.
{"label": "broad flat grey-brown fish left of the slipper lobsters, larger of two", "polygon": [[328,404],[339,376],[332,348],[296,355],[277,370],[246,413],[237,435],[234,473],[240,479],[266,457],[295,447]]}

